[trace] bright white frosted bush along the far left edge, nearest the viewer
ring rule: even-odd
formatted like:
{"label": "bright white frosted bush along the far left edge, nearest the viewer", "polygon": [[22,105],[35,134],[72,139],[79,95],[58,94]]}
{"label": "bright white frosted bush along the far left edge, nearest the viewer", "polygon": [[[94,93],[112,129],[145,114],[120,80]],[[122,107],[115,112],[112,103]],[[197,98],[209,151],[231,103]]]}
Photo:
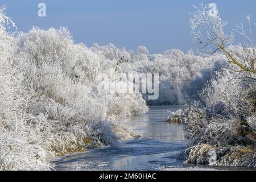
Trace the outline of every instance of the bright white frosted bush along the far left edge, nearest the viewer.
{"label": "bright white frosted bush along the far left edge, nearest the viewer", "polygon": [[[10,21],[0,10],[0,170],[49,169],[42,143],[34,142],[33,130],[24,115],[28,95],[23,92],[23,75],[11,64],[15,39],[3,23]],[[46,159],[47,158],[47,159]]]}

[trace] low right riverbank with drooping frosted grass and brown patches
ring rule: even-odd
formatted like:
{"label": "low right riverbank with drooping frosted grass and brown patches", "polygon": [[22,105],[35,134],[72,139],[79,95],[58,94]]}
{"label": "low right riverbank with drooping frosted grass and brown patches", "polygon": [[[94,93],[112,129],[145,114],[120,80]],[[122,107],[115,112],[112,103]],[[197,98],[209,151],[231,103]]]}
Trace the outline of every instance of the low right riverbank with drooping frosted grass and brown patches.
{"label": "low right riverbank with drooping frosted grass and brown patches", "polygon": [[188,139],[185,163],[256,167],[256,135],[245,119],[232,121],[230,116],[215,115],[195,104],[171,113],[168,121],[184,126]]}

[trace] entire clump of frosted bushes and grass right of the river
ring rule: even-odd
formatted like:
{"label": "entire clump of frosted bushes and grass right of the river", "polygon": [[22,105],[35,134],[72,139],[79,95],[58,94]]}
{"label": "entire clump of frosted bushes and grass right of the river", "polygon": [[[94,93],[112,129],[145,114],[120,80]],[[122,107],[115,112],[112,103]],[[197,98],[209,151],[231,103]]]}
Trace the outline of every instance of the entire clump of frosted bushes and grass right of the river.
{"label": "entire clump of frosted bushes and grass right of the river", "polygon": [[[214,151],[214,164],[255,167],[255,82],[243,81],[239,73],[224,69],[200,96],[204,105],[192,105],[181,112],[192,147],[188,148],[187,162],[211,163],[205,154]],[[203,151],[205,146],[208,148]]]}

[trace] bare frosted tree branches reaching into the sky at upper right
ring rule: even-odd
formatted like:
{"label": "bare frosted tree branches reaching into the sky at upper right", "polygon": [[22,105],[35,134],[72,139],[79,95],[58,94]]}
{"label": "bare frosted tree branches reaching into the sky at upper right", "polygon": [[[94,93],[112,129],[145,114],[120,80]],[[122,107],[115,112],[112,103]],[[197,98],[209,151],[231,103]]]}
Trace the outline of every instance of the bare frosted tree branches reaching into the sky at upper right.
{"label": "bare frosted tree branches reaching into the sky at upper right", "polygon": [[[208,47],[210,48],[210,53],[221,51],[228,59],[228,63],[234,64],[239,68],[236,70],[237,72],[256,73],[255,45],[252,36],[250,16],[246,16],[249,22],[250,35],[246,34],[242,24],[236,24],[236,29],[233,30],[249,41],[249,44],[240,43],[240,45],[244,47],[244,51],[247,52],[247,56],[243,57],[243,61],[241,61],[229,50],[229,46],[233,44],[234,35],[233,33],[227,34],[224,31],[224,27],[228,22],[222,20],[217,11],[215,11],[214,14],[210,13],[207,5],[201,4],[200,7],[194,7],[196,11],[195,13],[191,13],[192,18],[190,20],[192,35],[196,42],[198,41],[204,45],[202,49]],[[253,52],[252,54],[251,51]]]}

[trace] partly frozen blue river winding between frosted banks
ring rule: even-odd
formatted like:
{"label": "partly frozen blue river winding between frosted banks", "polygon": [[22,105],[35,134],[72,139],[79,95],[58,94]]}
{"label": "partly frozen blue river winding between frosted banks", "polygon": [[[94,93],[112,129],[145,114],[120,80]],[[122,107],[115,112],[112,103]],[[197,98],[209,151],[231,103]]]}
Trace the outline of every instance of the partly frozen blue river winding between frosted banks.
{"label": "partly frozen blue river winding between frosted banks", "polygon": [[170,110],[180,108],[181,106],[152,106],[146,114],[127,117],[126,126],[141,135],[141,138],[57,159],[52,167],[56,170],[131,171],[166,168],[221,169],[184,164],[179,159],[177,154],[187,144],[182,126],[164,121],[170,115]]}

